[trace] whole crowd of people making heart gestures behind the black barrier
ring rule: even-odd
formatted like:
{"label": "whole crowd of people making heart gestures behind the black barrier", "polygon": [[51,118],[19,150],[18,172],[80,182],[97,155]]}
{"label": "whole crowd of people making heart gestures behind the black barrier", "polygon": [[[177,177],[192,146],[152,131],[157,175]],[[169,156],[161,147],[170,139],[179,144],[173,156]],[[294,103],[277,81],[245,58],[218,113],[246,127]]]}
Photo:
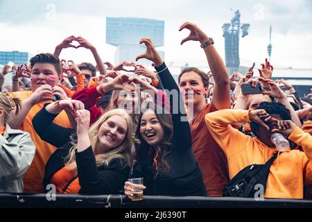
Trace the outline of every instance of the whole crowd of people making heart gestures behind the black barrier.
{"label": "whole crowd of people making heart gestures behind the black barrier", "polygon": [[[286,80],[272,80],[268,60],[258,78],[252,68],[229,75],[211,37],[196,24],[184,29],[190,33],[181,44],[199,42],[211,71],[187,67],[177,83],[146,38],[135,62],[103,62],[90,42],[70,36],[54,53],[5,65],[0,192],[42,194],[52,184],[57,194],[132,198],[137,186],[146,195],[219,197],[245,167],[277,155],[264,197],[311,198],[312,94],[300,98]],[[62,60],[69,47],[89,49],[96,65]],[[242,89],[259,84],[257,94]],[[288,140],[286,150],[273,133]],[[144,178],[144,185],[128,178]]]}

